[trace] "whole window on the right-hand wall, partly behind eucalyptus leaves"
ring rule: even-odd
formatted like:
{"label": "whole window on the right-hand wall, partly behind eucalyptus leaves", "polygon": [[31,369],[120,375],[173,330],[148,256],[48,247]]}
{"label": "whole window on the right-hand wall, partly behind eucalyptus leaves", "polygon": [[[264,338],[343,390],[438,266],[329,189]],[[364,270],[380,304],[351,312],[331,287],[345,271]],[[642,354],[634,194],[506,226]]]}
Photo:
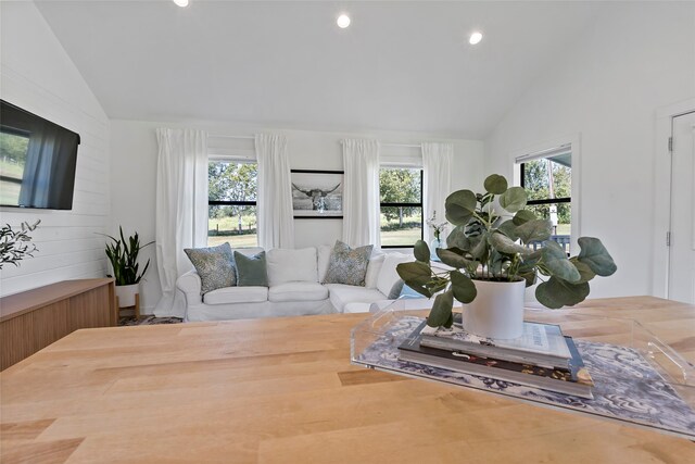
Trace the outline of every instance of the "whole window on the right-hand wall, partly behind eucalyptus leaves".
{"label": "whole window on the right-hand wall, partly behind eucalyptus leaves", "polygon": [[552,240],[569,253],[572,209],[572,153],[567,147],[520,164],[521,187],[528,193],[527,209],[553,223]]}

